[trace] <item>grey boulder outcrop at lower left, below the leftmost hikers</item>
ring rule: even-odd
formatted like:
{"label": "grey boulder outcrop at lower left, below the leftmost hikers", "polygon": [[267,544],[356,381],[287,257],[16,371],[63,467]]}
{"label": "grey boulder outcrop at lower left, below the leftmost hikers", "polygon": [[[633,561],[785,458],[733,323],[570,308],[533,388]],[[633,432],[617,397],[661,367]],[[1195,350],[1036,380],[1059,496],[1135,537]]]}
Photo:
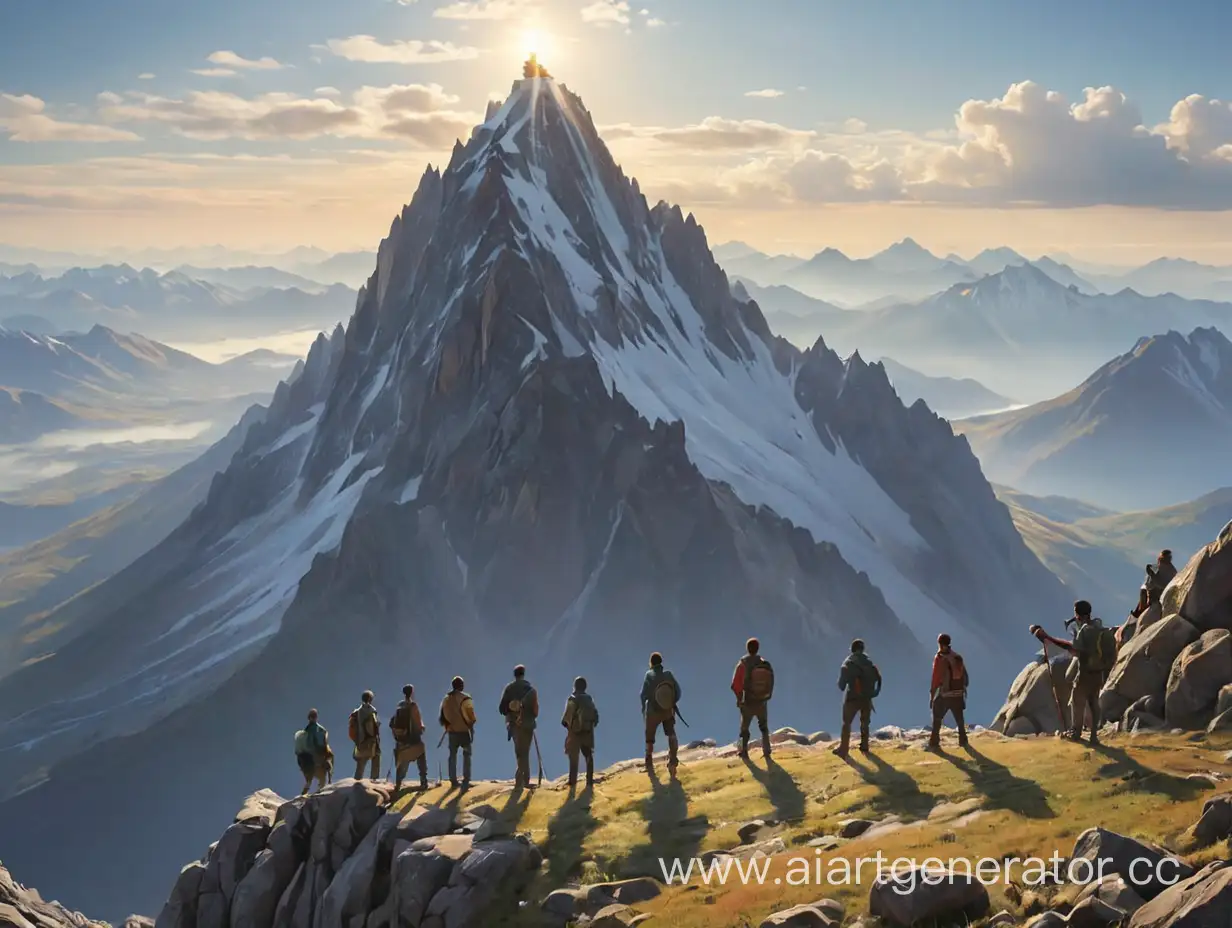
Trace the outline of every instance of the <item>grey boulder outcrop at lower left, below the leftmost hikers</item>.
{"label": "grey boulder outcrop at lower left, below the leftmost hikers", "polygon": [[155,928],[480,928],[542,855],[508,827],[485,828],[479,812],[499,815],[395,813],[387,789],[366,780],[291,801],[257,794],[184,869]]}

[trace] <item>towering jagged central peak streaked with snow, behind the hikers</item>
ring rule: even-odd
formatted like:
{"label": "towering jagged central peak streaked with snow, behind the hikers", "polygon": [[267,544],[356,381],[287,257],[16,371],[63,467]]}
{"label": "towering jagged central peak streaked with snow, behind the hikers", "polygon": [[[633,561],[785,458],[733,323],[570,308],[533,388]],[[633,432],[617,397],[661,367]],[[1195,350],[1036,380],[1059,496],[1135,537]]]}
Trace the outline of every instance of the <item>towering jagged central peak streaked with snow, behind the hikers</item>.
{"label": "towering jagged central peak streaked with snow, behind the hikers", "polygon": [[[991,716],[1020,664],[1007,631],[1064,601],[947,423],[904,408],[880,365],[774,338],[580,100],[524,80],[425,173],[346,329],[191,518],[73,604],[101,610],[89,631],[0,682],[0,781],[27,790],[0,831],[71,822],[70,850],[14,865],[103,914],[150,910],[237,795],[294,785],[309,705],[345,773],[360,690],[388,711],[414,680],[431,720],[462,673],[477,773],[504,774],[515,662],[545,741],[585,674],[615,759],[641,746],[652,649],[695,732],[723,737],[750,633],[775,718],[804,727],[837,722],[856,635],[888,680],[878,709],[923,720],[945,630]],[[103,854],[117,816],[150,833]]]}

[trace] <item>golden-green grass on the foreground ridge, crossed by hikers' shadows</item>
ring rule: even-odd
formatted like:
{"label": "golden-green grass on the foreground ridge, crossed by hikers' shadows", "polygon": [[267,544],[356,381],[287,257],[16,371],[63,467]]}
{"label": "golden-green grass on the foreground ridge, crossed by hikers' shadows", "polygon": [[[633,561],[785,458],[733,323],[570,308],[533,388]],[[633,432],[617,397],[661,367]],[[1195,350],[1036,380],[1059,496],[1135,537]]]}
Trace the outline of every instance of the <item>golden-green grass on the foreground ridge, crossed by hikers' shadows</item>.
{"label": "golden-green grass on the foreground ridge, crossed by hikers' shadows", "polygon": [[[791,858],[821,861],[822,875],[845,858],[871,858],[880,850],[896,858],[1067,858],[1085,828],[1115,832],[1189,849],[1186,829],[1211,795],[1232,790],[1232,780],[1212,788],[1185,779],[1193,773],[1228,770],[1223,755],[1232,738],[1189,739],[1183,736],[1117,736],[1100,748],[1056,738],[1007,739],[995,735],[972,738],[973,751],[947,742],[944,755],[920,749],[919,742],[875,742],[873,753],[853,753],[844,762],[828,746],[781,747],[772,764],[759,757],[749,764],[736,757],[690,759],[684,755],[680,780],[650,781],[638,767],[605,775],[594,794],[570,796],[559,781],[513,796],[508,784],[480,784],[461,796],[437,788],[421,797],[429,805],[461,808],[488,804],[503,810],[519,831],[530,832],[545,849],[547,864],[535,887],[536,898],[551,889],[641,874],[659,875],[659,858],[692,858],[739,843],[737,828],[753,818],[781,822],[787,853],[772,858],[761,884],[673,886],[653,902],[638,906],[679,928],[759,924],[771,912],[830,897],[843,902],[848,918],[867,911],[872,865],[860,885],[787,885]],[[695,754],[694,758],[697,755]],[[660,771],[662,776],[662,771]],[[960,810],[929,813],[941,804]],[[975,811],[973,811],[975,808]],[[833,852],[804,847],[818,836],[834,834],[845,818],[882,820],[901,824],[843,842]],[[1227,845],[1201,850],[1194,863],[1226,857]],[[816,864],[811,864],[816,866]],[[800,863],[793,873],[800,874]],[[1010,869],[1020,879],[1020,868]],[[779,882],[776,882],[779,880]],[[1063,901],[1072,887],[1027,891],[989,887],[993,911],[1021,914],[1040,898]],[[1036,902],[1032,906],[1032,895]]]}

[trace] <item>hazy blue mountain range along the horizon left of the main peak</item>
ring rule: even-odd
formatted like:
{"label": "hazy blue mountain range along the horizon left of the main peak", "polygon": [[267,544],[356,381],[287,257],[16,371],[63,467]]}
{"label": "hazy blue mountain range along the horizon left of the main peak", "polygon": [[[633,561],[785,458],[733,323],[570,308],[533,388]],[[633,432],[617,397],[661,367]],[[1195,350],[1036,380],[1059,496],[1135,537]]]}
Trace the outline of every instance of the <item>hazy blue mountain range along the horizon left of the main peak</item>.
{"label": "hazy blue mountain range along the horizon left of the main peak", "polygon": [[0,325],[44,334],[106,325],[165,340],[207,340],[330,328],[355,307],[355,291],[340,283],[308,280],[301,288],[290,286],[299,279],[261,267],[193,270],[218,282],[129,265],[0,276]]}

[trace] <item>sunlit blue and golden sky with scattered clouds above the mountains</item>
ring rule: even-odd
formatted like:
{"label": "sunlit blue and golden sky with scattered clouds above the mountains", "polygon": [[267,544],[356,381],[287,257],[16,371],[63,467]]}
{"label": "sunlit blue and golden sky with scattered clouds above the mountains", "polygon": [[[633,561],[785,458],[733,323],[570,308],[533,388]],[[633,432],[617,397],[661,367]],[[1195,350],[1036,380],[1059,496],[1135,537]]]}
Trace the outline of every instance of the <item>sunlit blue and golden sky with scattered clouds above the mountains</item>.
{"label": "sunlit blue and golden sky with scattered clouds above the mountains", "polygon": [[537,51],[713,242],[1232,264],[1228,35],[1189,0],[0,0],[0,243],[373,248]]}

